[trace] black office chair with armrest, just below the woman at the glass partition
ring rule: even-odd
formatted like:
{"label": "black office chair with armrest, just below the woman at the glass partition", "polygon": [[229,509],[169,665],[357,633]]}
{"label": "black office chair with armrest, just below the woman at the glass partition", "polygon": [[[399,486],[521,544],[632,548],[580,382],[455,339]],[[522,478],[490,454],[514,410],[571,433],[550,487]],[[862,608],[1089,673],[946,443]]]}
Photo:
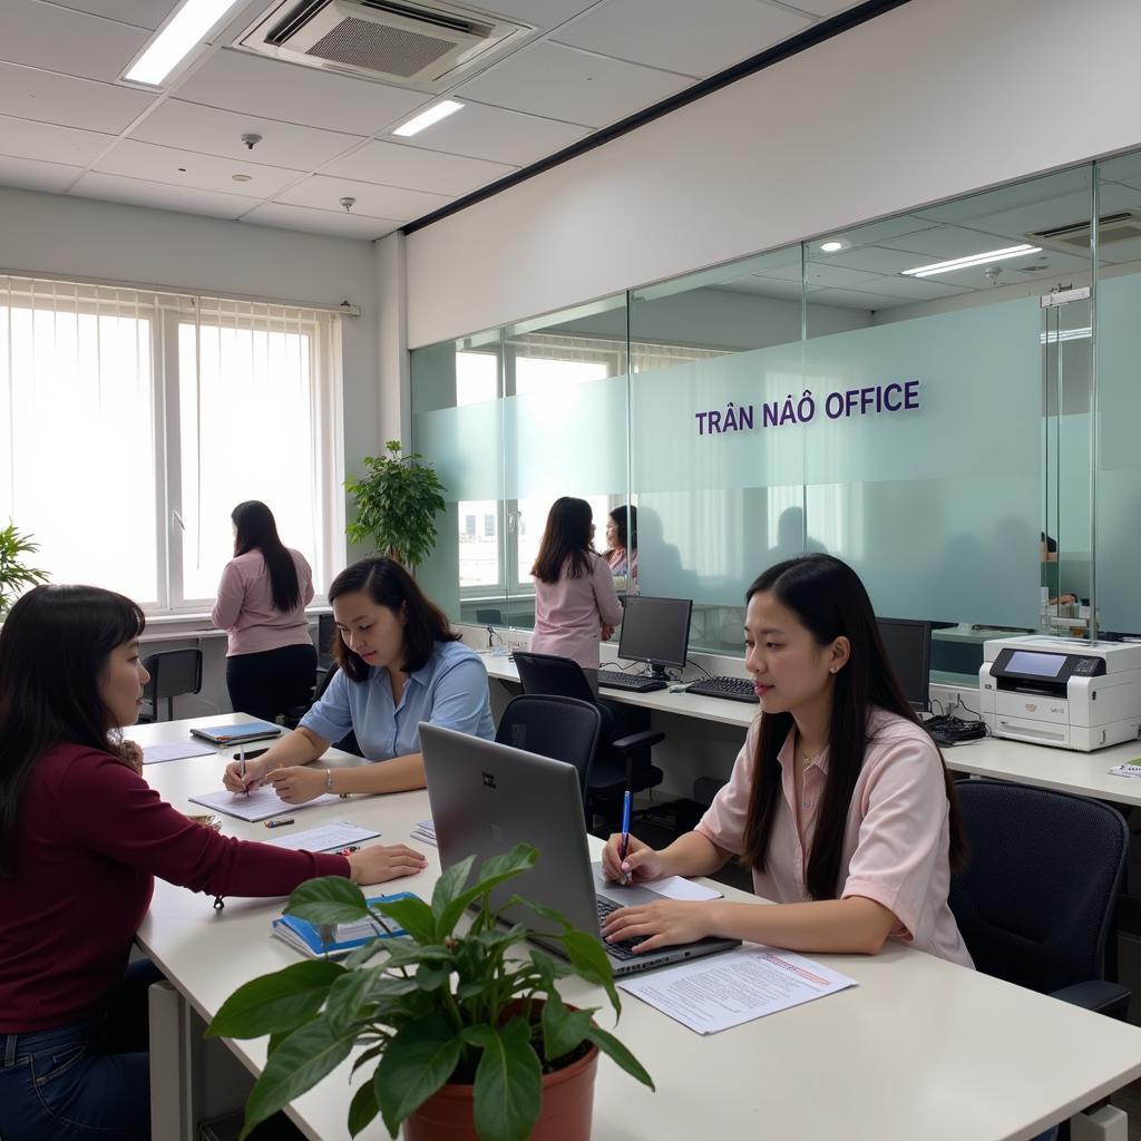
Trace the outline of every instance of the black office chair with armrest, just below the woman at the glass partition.
{"label": "black office chair with armrest, just below the woman at the glass partition", "polygon": [[597,706],[601,713],[601,738],[586,791],[588,818],[590,811],[597,811],[606,817],[608,825],[614,825],[628,782],[633,792],[656,788],[662,783],[662,770],[650,763],[649,751],[665,739],[665,734],[645,729],[618,737],[614,710],[598,701],[577,662],[553,654],[516,650],[515,664],[525,694],[574,697]]}

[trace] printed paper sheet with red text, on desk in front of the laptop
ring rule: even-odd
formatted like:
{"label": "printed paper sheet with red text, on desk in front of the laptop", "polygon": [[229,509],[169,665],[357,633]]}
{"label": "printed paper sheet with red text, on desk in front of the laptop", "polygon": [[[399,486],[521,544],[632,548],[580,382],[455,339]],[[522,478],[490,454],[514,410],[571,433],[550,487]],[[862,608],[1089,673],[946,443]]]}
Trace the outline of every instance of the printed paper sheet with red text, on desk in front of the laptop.
{"label": "printed paper sheet with red text, on desk in front of the laptop", "polygon": [[856,980],[791,950],[738,947],[634,974],[618,986],[690,1030],[717,1034],[845,990]]}

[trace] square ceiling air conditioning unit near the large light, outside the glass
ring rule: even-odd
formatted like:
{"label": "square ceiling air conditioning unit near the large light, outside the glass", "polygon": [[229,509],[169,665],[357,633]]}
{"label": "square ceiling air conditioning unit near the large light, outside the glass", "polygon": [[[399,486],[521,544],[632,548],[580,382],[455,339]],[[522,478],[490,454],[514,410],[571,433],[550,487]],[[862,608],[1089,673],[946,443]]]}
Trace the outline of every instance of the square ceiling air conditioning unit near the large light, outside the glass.
{"label": "square ceiling air conditioning unit near the large light, outside the glass", "polygon": [[265,13],[237,46],[310,67],[436,91],[531,31],[454,5],[293,0]]}

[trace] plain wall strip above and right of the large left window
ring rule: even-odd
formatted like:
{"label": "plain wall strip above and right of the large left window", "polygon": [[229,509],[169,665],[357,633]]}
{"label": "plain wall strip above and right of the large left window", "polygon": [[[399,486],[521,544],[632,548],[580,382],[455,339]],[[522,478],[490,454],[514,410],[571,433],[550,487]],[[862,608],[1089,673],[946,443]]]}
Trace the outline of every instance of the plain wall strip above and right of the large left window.
{"label": "plain wall strip above and right of the large left window", "polygon": [[0,188],[6,270],[283,301],[348,299],[361,316],[342,321],[346,463],[379,446],[379,298],[370,242]]}

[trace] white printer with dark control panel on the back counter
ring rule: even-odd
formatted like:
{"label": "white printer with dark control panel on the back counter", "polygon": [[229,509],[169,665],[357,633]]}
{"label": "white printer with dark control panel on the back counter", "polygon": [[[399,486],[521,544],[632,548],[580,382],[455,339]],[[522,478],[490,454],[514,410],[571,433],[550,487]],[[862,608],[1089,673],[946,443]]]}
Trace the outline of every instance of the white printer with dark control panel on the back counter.
{"label": "white printer with dark control panel on the back counter", "polygon": [[1033,634],[982,644],[982,720],[996,737],[1092,752],[1141,733],[1141,644]]}

